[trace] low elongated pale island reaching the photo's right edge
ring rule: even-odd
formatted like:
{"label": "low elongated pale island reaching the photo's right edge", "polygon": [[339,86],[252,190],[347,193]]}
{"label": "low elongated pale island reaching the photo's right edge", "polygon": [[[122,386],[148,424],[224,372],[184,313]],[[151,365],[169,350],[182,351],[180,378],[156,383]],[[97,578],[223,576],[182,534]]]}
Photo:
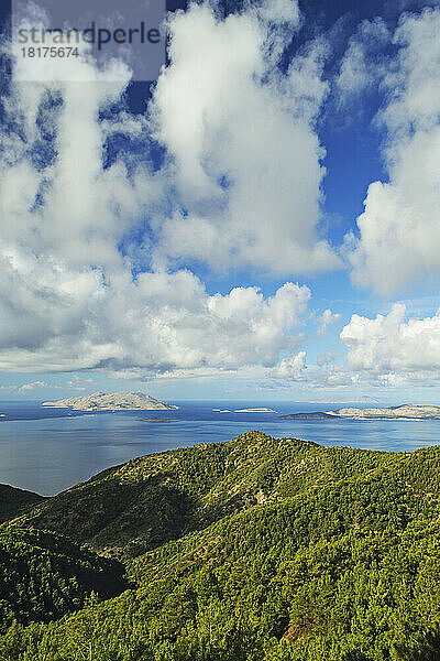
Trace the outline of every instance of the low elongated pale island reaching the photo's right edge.
{"label": "low elongated pale island reaching the photo's right edge", "polygon": [[440,420],[440,405],[402,404],[377,409],[339,409],[338,411],[312,411],[280,415],[277,420]]}

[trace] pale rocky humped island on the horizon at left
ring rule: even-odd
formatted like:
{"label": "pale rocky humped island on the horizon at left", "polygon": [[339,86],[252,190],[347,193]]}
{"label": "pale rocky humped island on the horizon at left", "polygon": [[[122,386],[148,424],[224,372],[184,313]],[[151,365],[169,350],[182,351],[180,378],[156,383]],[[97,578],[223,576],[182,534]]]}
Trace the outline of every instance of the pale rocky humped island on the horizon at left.
{"label": "pale rocky humped island on the horizon at left", "polygon": [[70,397],[57,402],[43,402],[43,407],[73,409],[74,411],[147,411],[178,409],[161,402],[145,392],[94,392],[81,397]]}

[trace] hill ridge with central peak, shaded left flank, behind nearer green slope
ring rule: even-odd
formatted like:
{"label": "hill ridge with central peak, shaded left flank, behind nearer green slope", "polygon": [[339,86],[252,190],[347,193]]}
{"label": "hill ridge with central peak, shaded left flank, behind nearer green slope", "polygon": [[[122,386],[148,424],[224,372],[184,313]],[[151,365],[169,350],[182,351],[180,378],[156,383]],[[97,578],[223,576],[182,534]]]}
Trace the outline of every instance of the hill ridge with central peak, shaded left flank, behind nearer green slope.
{"label": "hill ridge with central peak, shaded left flank, behind nearer green slope", "polygon": [[140,457],[40,505],[23,523],[135,556],[222,517],[369,472],[407,455],[326,448],[249,432],[234,441]]}

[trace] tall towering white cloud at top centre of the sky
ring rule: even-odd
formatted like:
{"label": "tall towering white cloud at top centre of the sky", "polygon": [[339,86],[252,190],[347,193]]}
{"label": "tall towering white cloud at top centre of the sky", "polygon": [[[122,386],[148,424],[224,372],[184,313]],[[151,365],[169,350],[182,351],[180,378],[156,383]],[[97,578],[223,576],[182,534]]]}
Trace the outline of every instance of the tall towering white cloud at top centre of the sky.
{"label": "tall towering white cloud at top centre of the sky", "polygon": [[151,105],[176,191],[173,213],[157,221],[157,263],[275,274],[338,267],[317,230],[326,45],[310,44],[285,74],[277,66],[298,15],[296,2],[266,2],[224,20],[191,4],[170,19],[170,64]]}

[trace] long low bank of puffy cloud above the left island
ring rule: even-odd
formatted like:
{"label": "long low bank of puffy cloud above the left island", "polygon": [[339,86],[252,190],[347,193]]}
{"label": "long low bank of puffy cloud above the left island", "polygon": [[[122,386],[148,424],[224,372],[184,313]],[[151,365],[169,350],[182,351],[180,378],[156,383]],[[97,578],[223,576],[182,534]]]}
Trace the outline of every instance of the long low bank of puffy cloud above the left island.
{"label": "long low bank of puffy cloud above the left island", "polygon": [[[91,304],[75,328],[56,334],[54,321],[41,328],[40,343],[0,348],[0,369],[64,371],[128,369],[153,371],[210,366],[238,369],[275,365],[282,350],[298,344],[299,324],[310,292],[285,283],[273,296],[257,288],[209,295],[193,273],[142,273],[118,289],[102,283],[87,294]],[[66,318],[70,301],[64,301]],[[77,311],[75,297],[72,300]],[[55,305],[57,308],[58,305]],[[56,322],[56,319],[55,319]]]}

